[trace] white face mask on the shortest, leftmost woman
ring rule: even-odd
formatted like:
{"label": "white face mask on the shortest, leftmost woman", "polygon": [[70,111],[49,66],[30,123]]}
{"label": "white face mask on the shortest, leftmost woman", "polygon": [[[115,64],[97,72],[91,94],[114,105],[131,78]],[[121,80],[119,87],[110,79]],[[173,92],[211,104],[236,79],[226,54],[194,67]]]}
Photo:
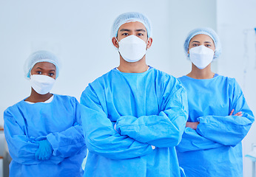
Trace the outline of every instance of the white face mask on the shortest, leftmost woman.
{"label": "white face mask on the shortest, leftmost woman", "polygon": [[30,76],[30,84],[38,94],[47,94],[53,88],[54,83],[55,79],[46,75],[33,74]]}

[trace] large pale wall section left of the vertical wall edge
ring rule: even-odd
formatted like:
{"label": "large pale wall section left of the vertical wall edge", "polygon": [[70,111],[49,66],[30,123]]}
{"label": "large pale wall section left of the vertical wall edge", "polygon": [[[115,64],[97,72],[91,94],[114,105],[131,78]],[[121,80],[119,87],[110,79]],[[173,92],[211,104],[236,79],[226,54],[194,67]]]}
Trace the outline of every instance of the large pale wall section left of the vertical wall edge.
{"label": "large pale wall section left of the vertical wall edge", "polygon": [[183,54],[187,32],[202,26],[216,29],[212,0],[0,0],[0,125],[3,111],[30,95],[23,64],[31,52],[48,49],[58,55],[62,69],[53,93],[79,100],[88,83],[118,66],[110,29],[117,15],[129,11],[152,21],[147,63],[176,77],[190,70]]}

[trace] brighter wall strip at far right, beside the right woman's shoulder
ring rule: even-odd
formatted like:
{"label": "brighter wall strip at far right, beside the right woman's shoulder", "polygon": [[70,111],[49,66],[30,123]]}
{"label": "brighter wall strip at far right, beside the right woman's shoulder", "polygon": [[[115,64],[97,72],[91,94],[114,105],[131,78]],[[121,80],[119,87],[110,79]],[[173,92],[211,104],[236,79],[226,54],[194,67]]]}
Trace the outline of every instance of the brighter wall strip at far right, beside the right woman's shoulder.
{"label": "brighter wall strip at far right, beside the right woman's shoulder", "polygon": [[[217,3],[218,34],[223,44],[223,54],[218,61],[219,73],[235,77],[243,89],[246,101],[256,113],[256,1],[219,0]],[[244,33],[247,32],[247,35]],[[243,155],[256,143],[256,125],[243,139]],[[252,176],[252,164],[243,159],[243,174]]]}

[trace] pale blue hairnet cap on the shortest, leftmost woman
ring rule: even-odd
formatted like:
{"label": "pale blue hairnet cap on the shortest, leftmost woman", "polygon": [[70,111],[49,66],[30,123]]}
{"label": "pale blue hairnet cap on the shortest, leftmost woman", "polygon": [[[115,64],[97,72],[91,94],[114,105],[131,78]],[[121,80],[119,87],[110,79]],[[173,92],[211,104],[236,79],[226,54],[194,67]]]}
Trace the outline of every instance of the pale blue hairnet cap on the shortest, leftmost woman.
{"label": "pale blue hairnet cap on the shortest, leftmost woman", "polygon": [[33,69],[33,66],[35,66],[36,63],[40,63],[40,62],[53,63],[56,67],[56,78],[58,77],[59,66],[60,66],[58,58],[52,52],[39,50],[37,52],[33,52],[27,58],[24,64],[24,76],[26,79],[30,78],[30,72],[31,72],[31,69]]}

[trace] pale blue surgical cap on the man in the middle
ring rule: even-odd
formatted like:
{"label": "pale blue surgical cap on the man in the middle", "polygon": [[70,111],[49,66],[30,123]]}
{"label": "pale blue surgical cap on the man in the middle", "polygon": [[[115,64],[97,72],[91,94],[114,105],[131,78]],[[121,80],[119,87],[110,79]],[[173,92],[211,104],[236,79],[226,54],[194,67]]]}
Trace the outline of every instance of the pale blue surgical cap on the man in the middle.
{"label": "pale blue surgical cap on the man in the middle", "polygon": [[119,15],[117,18],[115,18],[111,30],[111,38],[117,37],[118,30],[121,27],[121,25],[127,23],[128,21],[141,22],[141,24],[144,24],[144,26],[146,27],[147,37],[152,37],[152,27],[149,18],[147,18],[145,15],[141,13],[123,13]]}

